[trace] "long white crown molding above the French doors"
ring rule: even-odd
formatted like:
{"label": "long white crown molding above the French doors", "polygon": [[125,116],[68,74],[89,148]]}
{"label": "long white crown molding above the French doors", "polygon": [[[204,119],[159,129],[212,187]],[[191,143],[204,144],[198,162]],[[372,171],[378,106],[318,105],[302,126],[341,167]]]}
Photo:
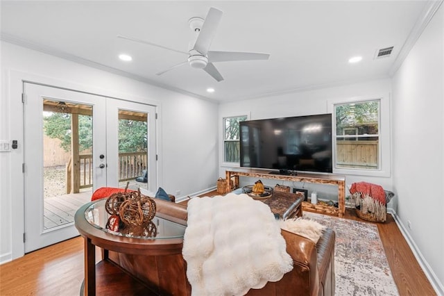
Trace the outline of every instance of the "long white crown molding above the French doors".
{"label": "long white crown molding above the French doors", "polygon": [[215,102],[214,99],[210,99],[208,97],[203,97],[200,94],[195,94],[194,92],[187,92],[186,90],[182,90],[180,88],[173,88],[170,85],[166,85],[164,83],[159,83],[157,81],[153,81],[151,79],[147,79],[147,78],[139,76],[139,75],[131,74],[131,73],[122,71],[120,69],[116,69],[114,67],[108,67],[108,66],[102,65],[100,63],[93,62],[92,60],[80,58],[78,56],[74,56],[74,54],[68,54],[65,51],[59,51],[57,49],[54,49],[53,47],[46,47],[45,45],[42,45],[42,44],[37,44],[35,42],[29,42],[28,40],[23,40],[22,38],[17,38],[14,35],[1,33],[0,40],[2,40],[4,42],[9,42],[12,44],[19,45],[21,47],[26,47],[28,49],[32,49],[35,51],[40,51],[43,54],[49,54],[50,56],[56,56],[56,57],[62,58],[64,60],[69,60],[74,63],[78,63],[78,64],[85,65],[88,67],[93,67],[96,69],[100,69],[105,72],[110,72],[112,74],[117,74],[119,76],[125,76],[129,79],[134,79],[136,81],[148,83],[150,85],[156,86],[157,88],[163,88],[165,90],[170,90],[172,92],[178,92],[180,94],[185,94],[189,97],[195,97],[197,99],[204,99],[205,101],[211,101],[213,103]]}

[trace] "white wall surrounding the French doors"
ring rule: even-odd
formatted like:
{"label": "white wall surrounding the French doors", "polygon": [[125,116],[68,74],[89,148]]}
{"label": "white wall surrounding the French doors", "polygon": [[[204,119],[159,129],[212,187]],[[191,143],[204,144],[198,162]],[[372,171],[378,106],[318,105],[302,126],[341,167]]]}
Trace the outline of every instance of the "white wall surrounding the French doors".
{"label": "white wall surrounding the French doors", "polygon": [[[218,104],[1,42],[0,140],[22,133],[21,86],[17,76],[108,97],[158,106],[159,186],[180,196],[214,188],[217,179]],[[10,80],[12,79],[12,80]],[[23,245],[23,149],[0,153],[0,262]]]}

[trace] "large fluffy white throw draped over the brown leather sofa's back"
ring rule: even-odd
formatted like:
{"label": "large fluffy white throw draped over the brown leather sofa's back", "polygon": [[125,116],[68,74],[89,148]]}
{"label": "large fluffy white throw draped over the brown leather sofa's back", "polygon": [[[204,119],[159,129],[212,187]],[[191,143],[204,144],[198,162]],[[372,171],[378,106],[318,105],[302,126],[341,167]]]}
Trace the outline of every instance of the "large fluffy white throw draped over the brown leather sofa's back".
{"label": "large fluffy white throw draped over the brown leather sofa's back", "polygon": [[244,295],[279,281],[293,259],[270,208],[245,194],[194,198],[182,255],[191,295]]}

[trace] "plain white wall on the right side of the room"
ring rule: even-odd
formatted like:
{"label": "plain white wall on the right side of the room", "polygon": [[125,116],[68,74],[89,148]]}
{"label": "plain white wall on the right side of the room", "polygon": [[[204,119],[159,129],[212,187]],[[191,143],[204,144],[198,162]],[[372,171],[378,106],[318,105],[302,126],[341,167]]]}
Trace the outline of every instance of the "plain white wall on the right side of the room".
{"label": "plain white wall on the right side of the room", "polygon": [[[398,216],[444,295],[444,6],[393,77]],[[411,229],[407,227],[411,222]]]}

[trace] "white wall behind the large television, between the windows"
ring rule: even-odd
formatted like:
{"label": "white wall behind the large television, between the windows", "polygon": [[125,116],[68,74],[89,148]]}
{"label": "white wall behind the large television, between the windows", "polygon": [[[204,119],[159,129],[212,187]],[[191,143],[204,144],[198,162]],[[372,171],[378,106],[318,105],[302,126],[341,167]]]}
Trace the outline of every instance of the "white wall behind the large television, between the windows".
{"label": "white wall behind the large television, between the windows", "polygon": [[[291,94],[282,94],[275,97],[265,97],[259,99],[250,99],[246,101],[231,102],[221,104],[219,107],[219,137],[223,142],[222,118],[233,115],[250,115],[251,120],[273,118],[273,117],[291,117],[300,115],[314,115],[328,113],[327,105],[330,101],[348,100],[350,98],[368,98],[384,97],[389,99],[391,92],[390,79],[381,79],[369,81],[366,83],[355,83],[352,85],[342,85],[334,88],[323,88],[319,90],[309,90],[304,92],[295,92]],[[388,117],[388,115],[387,115]],[[386,119],[388,122],[389,120]],[[222,144],[221,144],[222,145]],[[230,165],[223,163],[223,149],[219,147],[219,176],[225,177],[225,170],[231,168]],[[244,183],[252,182],[251,179],[243,179]],[[276,180],[262,180],[268,186],[274,186]],[[392,190],[392,178],[388,176],[354,176],[345,175],[345,182],[351,185],[357,181],[367,181],[377,183],[386,190]],[[285,183],[287,186],[296,186],[302,188],[300,183]],[[314,184],[305,184],[305,189],[316,190],[321,199],[336,199],[336,186],[320,186]],[[346,192],[347,195],[348,192]],[[389,205],[390,206],[390,205]]]}

